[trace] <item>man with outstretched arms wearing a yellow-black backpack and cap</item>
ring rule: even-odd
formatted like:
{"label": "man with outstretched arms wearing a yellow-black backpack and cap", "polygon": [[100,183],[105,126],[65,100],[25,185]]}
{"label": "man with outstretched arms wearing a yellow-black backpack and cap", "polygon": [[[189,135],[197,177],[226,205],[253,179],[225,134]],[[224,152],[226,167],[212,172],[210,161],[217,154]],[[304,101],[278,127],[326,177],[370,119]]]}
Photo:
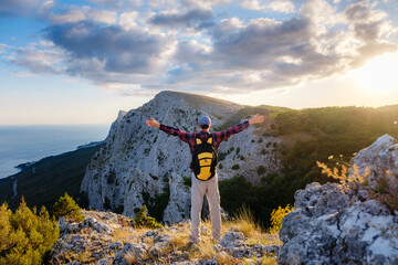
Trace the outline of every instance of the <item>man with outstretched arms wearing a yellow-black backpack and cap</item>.
{"label": "man with outstretched arms wearing a yellow-black backpack and cap", "polygon": [[[203,195],[207,195],[209,209],[210,209],[210,221],[211,221],[211,232],[212,237],[216,241],[219,241],[221,237],[221,214],[220,214],[220,192],[218,188],[218,176],[217,176],[217,149],[220,146],[221,141],[227,140],[234,134],[239,134],[243,129],[248,128],[252,124],[260,124],[264,121],[264,116],[254,115],[249,120],[232,126],[223,131],[210,132],[211,120],[209,117],[203,116],[199,119],[198,127],[200,128],[200,132],[185,132],[175,127],[166,126],[159,124],[155,118],[147,119],[145,123],[150,127],[159,128],[166,134],[177,136],[180,140],[188,142],[191,153],[192,160],[190,162],[190,169],[192,170],[192,187],[191,187],[191,222],[192,222],[192,235],[191,240],[193,244],[197,244],[200,241],[200,212],[203,203]],[[205,145],[203,145],[205,142]],[[210,151],[207,151],[209,160],[207,157],[202,159],[202,161],[211,161],[212,155],[211,150],[216,152],[216,167],[210,162],[205,166],[200,166],[198,169],[197,166],[197,155],[198,155],[198,146],[211,146]],[[205,155],[207,156],[207,155]],[[199,153],[199,158],[203,157],[203,153]],[[206,172],[205,172],[206,171]],[[208,174],[208,178],[203,178],[203,174]]]}

